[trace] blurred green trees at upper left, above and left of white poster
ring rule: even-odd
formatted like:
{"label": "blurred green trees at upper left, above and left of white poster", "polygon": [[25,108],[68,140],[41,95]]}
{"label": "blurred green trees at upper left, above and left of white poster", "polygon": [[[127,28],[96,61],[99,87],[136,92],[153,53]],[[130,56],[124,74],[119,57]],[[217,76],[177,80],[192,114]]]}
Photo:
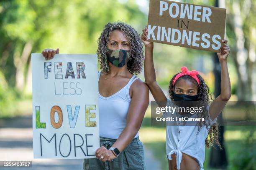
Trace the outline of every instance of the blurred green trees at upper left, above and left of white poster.
{"label": "blurred green trees at upper left, above and left of white poster", "polygon": [[143,28],[147,18],[136,2],[119,1],[1,1],[0,70],[8,84],[18,92],[26,85],[31,90],[31,52],[59,47],[61,53],[96,53],[106,23],[120,20]]}

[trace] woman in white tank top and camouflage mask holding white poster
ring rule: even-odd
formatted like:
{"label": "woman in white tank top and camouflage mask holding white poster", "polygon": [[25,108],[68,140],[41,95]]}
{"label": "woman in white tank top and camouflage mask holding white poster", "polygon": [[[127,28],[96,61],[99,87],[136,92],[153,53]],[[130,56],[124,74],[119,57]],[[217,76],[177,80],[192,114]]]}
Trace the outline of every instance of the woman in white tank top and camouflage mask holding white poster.
{"label": "woman in white tank top and camouflage mask holding white poster", "polygon": [[[138,130],[148,107],[148,86],[133,73],[143,65],[143,46],[136,30],[125,23],[108,23],[100,35],[97,55],[100,145],[97,158],[84,159],[84,170],[144,170]],[[42,52],[52,59],[59,49]]]}

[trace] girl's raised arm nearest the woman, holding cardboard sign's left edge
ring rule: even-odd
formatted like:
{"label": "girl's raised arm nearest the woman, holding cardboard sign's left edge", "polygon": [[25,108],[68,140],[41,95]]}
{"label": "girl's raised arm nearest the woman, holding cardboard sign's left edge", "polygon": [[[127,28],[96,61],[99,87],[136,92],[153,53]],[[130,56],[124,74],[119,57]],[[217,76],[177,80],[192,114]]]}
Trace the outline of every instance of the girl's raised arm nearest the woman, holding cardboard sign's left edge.
{"label": "girl's raised arm nearest the woman, holding cardboard sign's left edge", "polygon": [[156,82],[156,72],[154,67],[153,61],[153,49],[154,43],[147,41],[148,38],[148,29],[145,28],[143,30],[143,34],[141,35],[141,40],[145,45],[145,62],[144,62],[144,75],[145,75],[145,82],[148,85],[154,99],[156,100],[159,107],[165,107],[167,98],[164,95],[163,90]]}

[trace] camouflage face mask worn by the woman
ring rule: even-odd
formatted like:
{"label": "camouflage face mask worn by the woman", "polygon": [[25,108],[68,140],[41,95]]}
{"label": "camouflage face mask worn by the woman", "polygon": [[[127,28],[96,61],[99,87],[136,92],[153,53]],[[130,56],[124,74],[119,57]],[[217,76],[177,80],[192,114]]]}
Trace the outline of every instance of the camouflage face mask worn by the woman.
{"label": "camouflage face mask worn by the woman", "polygon": [[107,59],[116,67],[123,67],[130,59],[131,50],[110,50],[107,47]]}

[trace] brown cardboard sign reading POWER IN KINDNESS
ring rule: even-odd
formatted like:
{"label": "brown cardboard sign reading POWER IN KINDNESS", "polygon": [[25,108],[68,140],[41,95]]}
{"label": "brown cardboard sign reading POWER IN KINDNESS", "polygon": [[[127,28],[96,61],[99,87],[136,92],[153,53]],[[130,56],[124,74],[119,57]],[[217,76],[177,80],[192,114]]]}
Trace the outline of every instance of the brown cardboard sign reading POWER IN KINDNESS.
{"label": "brown cardboard sign reading POWER IN KINDNESS", "polygon": [[225,36],[226,9],[150,0],[148,40],[219,52]]}

